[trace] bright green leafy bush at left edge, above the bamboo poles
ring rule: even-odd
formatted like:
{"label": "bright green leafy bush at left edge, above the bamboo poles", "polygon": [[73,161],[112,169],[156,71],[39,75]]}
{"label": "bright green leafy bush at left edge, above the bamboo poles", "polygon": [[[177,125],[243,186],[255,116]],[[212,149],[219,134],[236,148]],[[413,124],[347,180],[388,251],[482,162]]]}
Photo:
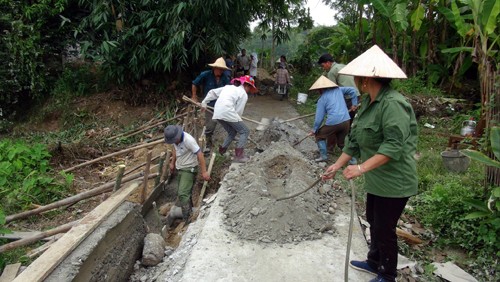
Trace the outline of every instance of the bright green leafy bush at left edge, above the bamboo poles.
{"label": "bright green leafy bush at left edge, above the bamboo poles", "polygon": [[51,203],[67,194],[73,178],[66,174],[53,176],[49,158],[44,145],[0,141],[0,197],[5,212]]}

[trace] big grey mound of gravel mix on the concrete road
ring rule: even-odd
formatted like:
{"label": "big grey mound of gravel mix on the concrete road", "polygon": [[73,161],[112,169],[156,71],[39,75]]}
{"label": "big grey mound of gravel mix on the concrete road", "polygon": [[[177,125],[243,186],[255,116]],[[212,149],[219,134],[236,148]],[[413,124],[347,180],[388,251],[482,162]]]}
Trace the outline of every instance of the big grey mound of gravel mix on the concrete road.
{"label": "big grey mound of gravel mix on the concrete road", "polygon": [[334,225],[331,185],[320,183],[298,197],[276,201],[306,189],[320,172],[288,142],[272,143],[226,175],[229,195],[221,206],[227,229],[242,239],[265,243],[321,238]]}

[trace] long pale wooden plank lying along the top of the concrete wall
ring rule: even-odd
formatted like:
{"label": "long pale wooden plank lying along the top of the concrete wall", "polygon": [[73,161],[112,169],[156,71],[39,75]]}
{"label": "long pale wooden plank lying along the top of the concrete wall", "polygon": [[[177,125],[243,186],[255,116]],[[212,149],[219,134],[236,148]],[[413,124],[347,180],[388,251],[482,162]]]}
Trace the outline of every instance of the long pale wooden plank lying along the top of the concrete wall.
{"label": "long pale wooden plank lying along the top of the concrete wall", "polygon": [[71,228],[61,239],[57,240],[38,259],[31,263],[14,281],[43,281],[61,261],[71,253],[106,217],[116,210],[127,197],[139,187],[133,182],[126,188],[118,190],[106,201],[89,212],[77,226]]}

